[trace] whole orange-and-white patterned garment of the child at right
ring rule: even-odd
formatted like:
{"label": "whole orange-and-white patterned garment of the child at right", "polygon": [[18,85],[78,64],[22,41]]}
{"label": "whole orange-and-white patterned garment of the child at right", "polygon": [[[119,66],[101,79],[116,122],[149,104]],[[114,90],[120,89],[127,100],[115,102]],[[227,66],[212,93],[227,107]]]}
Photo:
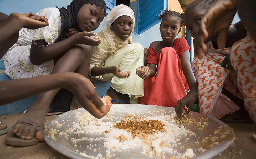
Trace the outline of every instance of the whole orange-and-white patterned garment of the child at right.
{"label": "whole orange-and-white patterned garment of the child at right", "polygon": [[[198,80],[201,113],[221,118],[239,109],[221,93],[224,87],[234,96],[245,101],[246,109],[256,122],[255,46],[255,42],[249,35],[232,47],[224,49],[214,49],[212,42],[209,42],[203,58],[193,59],[193,68]],[[230,54],[234,70],[221,67],[221,62],[226,57],[225,54]],[[246,87],[243,87],[245,83]]]}

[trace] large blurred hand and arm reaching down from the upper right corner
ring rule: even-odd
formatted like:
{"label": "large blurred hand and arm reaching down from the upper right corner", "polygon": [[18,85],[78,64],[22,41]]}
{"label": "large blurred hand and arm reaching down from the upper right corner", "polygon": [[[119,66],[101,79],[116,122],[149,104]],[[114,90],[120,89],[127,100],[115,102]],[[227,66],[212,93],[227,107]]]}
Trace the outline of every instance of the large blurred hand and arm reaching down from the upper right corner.
{"label": "large blurred hand and arm reaching down from the upper right corner", "polygon": [[[199,58],[202,57],[202,52],[206,50],[205,39],[214,31],[218,31],[217,43],[220,49],[225,47],[229,26],[234,18],[236,11],[242,23],[237,23],[237,37],[234,40],[238,41],[243,37],[244,26],[256,41],[256,23],[255,10],[256,2],[254,0],[219,0],[204,14],[199,24],[199,29],[194,39],[194,52]],[[244,26],[243,26],[244,25]],[[246,34],[245,34],[246,35]],[[233,39],[231,39],[233,40]]]}

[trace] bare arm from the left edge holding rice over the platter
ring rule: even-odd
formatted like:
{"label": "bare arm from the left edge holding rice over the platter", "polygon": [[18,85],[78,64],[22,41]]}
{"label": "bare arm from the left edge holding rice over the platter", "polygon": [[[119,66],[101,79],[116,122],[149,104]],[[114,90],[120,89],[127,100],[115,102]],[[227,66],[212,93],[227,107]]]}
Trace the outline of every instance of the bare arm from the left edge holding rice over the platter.
{"label": "bare arm from the left edge holding rice over the platter", "polygon": [[101,118],[106,115],[111,107],[110,98],[105,105],[97,95],[94,86],[89,79],[73,72],[0,81],[1,105],[57,88],[66,88],[70,90],[81,106],[96,118]]}

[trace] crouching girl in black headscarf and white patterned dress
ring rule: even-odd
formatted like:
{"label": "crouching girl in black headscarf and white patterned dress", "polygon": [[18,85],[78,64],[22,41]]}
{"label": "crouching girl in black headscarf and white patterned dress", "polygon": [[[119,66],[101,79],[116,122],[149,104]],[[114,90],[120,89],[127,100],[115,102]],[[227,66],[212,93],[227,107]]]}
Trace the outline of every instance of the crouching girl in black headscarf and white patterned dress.
{"label": "crouching girl in black headscarf and white patterned dress", "polygon": [[[70,71],[87,77],[91,47],[98,46],[101,41],[89,36],[95,35],[91,31],[98,28],[106,15],[105,1],[73,0],[67,8],[45,8],[37,15],[45,16],[49,26],[35,30],[22,28],[19,31],[18,41],[4,56],[6,74],[12,79],[21,79]],[[70,28],[80,32],[68,38]],[[17,136],[32,139],[35,129],[44,125],[49,105],[58,90],[38,96],[13,127]],[[36,135],[43,138],[42,131]]]}

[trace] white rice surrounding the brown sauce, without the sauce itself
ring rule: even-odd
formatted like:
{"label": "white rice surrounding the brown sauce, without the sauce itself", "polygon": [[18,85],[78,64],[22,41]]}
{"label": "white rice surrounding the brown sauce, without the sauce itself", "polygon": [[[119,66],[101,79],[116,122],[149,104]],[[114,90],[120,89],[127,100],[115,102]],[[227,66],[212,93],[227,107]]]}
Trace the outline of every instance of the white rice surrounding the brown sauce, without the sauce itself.
{"label": "white rice surrounding the brown sauce, without the sauce itself", "polygon": [[[146,113],[144,113],[145,115]],[[68,132],[72,132],[74,134],[99,134],[104,135],[104,137],[100,138],[87,138],[87,137],[78,137],[72,138],[71,142],[76,144],[78,141],[87,140],[87,141],[96,141],[103,140],[104,145],[107,148],[106,158],[109,156],[113,156],[110,154],[110,150],[122,152],[129,151],[132,148],[141,148],[141,154],[144,154],[149,157],[164,156],[164,153],[168,154],[176,154],[177,151],[173,149],[174,146],[177,146],[177,141],[181,138],[186,137],[189,139],[190,135],[195,135],[194,132],[186,129],[183,125],[177,125],[177,120],[175,113],[171,115],[153,115],[151,116],[143,116],[141,115],[141,120],[158,120],[161,121],[163,127],[165,129],[164,132],[159,131],[158,133],[145,135],[145,138],[133,137],[131,132],[128,132],[126,129],[118,129],[115,128],[114,125],[117,122],[120,122],[123,118],[119,119],[116,122],[116,117],[107,115],[101,119],[96,119],[88,112],[78,112],[76,114],[76,118],[79,122],[73,122],[73,127],[71,127]],[[108,121],[106,121],[108,120]],[[125,140],[120,140],[120,136]],[[92,146],[90,146],[91,148]],[[96,147],[97,148],[97,147]],[[102,158],[98,154],[98,156],[88,156],[85,152],[80,152],[80,155],[83,155],[88,158]],[[187,149],[183,154],[178,153],[177,158],[193,157],[195,154],[193,149]]]}

